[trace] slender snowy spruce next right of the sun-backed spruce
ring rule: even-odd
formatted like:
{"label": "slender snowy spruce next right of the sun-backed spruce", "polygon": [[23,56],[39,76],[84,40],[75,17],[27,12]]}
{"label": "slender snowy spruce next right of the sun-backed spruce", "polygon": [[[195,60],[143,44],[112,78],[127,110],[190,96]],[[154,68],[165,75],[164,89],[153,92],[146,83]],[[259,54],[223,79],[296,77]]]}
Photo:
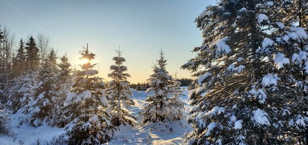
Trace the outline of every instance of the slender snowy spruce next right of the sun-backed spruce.
{"label": "slender snowy spruce next right of the sun-backed spruce", "polygon": [[122,65],[126,61],[121,57],[123,51],[117,50],[116,52],[118,56],[112,58],[115,65],[110,66],[112,72],[108,74],[108,77],[112,80],[109,82],[109,88],[105,91],[111,110],[111,123],[117,127],[122,124],[126,125],[126,123],[133,126],[136,118],[128,112],[128,107],[134,105],[133,100],[130,98],[132,93],[127,81],[130,75],[125,73],[127,67]]}

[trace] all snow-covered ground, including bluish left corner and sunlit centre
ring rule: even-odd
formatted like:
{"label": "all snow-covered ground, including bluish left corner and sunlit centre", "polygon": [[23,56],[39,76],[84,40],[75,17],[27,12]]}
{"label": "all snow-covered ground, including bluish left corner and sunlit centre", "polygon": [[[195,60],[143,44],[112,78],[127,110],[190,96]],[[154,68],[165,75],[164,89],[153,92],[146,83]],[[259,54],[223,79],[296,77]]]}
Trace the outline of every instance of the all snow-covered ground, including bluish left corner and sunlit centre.
{"label": "all snow-covered ground, including bluish left corner and sunlit centre", "polygon": [[[183,96],[181,100],[185,103],[185,112],[188,112],[190,106],[188,106],[187,87],[182,87]],[[146,105],[145,100],[147,94],[145,91],[132,90],[133,100],[135,106],[130,108],[130,113],[137,116],[138,123],[134,127],[120,126],[119,131],[115,132],[113,139],[107,144],[181,144],[184,134],[191,131],[190,125],[186,121],[177,122],[172,124],[172,132],[169,130],[148,130],[148,128],[142,128],[139,125],[139,121],[142,116],[139,116],[142,108]],[[14,120],[14,116],[11,117]],[[56,128],[50,126],[31,127],[29,124],[18,125],[12,121],[9,125],[12,135],[10,137],[0,135],[0,144],[37,144],[37,140],[41,144],[46,144],[51,140],[64,133],[64,128]]]}

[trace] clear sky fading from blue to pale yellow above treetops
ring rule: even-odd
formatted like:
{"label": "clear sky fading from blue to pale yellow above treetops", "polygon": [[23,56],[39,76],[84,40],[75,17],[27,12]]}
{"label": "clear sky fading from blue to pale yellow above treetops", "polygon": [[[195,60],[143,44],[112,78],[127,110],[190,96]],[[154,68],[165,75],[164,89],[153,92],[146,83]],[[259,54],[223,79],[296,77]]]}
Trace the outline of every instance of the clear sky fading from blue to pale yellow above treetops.
{"label": "clear sky fading from blue to pale yellow above treetops", "polygon": [[106,80],[119,45],[132,83],[144,82],[151,66],[166,53],[167,71],[189,78],[180,66],[194,57],[190,51],[201,44],[194,20],[216,1],[6,1],[0,0],[0,25],[18,39],[30,34],[49,35],[58,56],[68,54],[70,63],[80,64],[78,52],[89,43],[97,54],[100,76]]}

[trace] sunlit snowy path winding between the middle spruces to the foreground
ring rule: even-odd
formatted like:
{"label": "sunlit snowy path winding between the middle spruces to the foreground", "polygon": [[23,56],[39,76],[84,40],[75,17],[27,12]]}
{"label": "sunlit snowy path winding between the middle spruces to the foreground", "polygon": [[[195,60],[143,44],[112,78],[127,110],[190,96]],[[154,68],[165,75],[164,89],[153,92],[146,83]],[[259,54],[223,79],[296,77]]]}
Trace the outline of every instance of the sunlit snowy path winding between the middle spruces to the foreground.
{"label": "sunlit snowy path winding between the middle spruces to the foreground", "polygon": [[[130,108],[130,113],[137,116],[138,123],[133,127],[121,126],[120,131],[117,131],[111,141],[107,144],[181,144],[184,133],[191,127],[185,124],[185,127],[175,126],[174,131],[149,131],[139,127],[141,116],[139,112],[142,111],[145,104],[146,94],[144,91],[132,91],[134,94],[135,106]],[[183,90],[185,94],[181,99],[185,104],[188,103],[187,90]],[[187,106],[187,108],[189,108]],[[189,110],[189,109],[186,109]]]}

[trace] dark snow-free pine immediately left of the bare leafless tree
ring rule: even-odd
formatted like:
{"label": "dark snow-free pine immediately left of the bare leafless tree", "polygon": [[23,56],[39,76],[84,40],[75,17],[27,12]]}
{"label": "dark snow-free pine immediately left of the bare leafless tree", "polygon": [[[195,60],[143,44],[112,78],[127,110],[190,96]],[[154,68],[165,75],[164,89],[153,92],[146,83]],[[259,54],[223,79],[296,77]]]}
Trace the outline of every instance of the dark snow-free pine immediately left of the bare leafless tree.
{"label": "dark snow-free pine immediately left of the bare leafless tree", "polygon": [[40,56],[38,54],[38,48],[36,47],[35,40],[31,36],[26,43],[26,65],[27,69],[34,70],[40,64]]}

